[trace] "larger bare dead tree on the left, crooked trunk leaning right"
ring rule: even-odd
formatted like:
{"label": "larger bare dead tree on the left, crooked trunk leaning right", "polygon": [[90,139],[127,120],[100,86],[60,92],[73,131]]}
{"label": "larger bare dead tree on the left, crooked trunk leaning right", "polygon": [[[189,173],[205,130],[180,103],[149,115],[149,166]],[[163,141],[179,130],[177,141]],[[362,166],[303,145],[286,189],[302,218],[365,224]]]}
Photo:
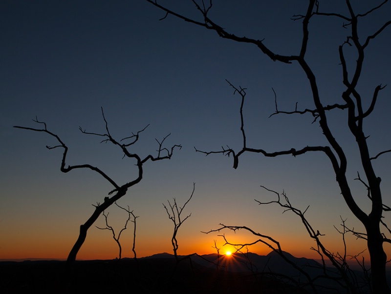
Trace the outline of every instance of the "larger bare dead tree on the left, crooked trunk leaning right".
{"label": "larger bare dead tree on the left, crooked trunk leaning right", "polygon": [[[68,258],[66,260],[67,266],[69,268],[72,268],[72,266],[76,260],[76,255],[78,254],[80,248],[82,247],[84,241],[86,240],[88,229],[94,224],[94,222],[98,219],[98,217],[110,205],[112,205],[115,201],[117,201],[122,196],[124,196],[130,187],[136,185],[137,183],[139,183],[142,180],[143,171],[144,171],[144,163],[146,163],[149,160],[150,161],[157,161],[157,160],[162,160],[162,159],[171,159],[171,157],[173,156],[174,149],[176,147],[181,148],[181,145],[174,145],[171,147],[171,149],[167,149],[167,148],[163,147],[163,143],[164,143],[165,139],[168,136],[170,136],[170,134],[169,134],[166,137],[164,137],[161,141],[158,141],[156,139],[156,141],[158,143],[158,149],[157,149],[156,156],[147,155],[146,157],[141,157],[138,154],[131,153],[129,151],[129,148],[139,140],[140,133],[142,133],[148,127],[148,125],[144,129],[142,129],[141,131],[138,131],[135,134],[132,133],[131,136],[122,138],[121,140],[118,141],[110,135],[108,122],[105,118],[103,108],[101,108],[101,110],[102,110],[102,117],[103,117],[103,120],[105,121],[105,125],[106,125],[106,133],[103,133],[103,134],[89,133],[89,132],[86,132],[86,130],[83,130],[81,127],[79,127],[79,129],[83,134],[103,137],[104,139],[101,142],[106,142],[106,143],[110,142],[110,143],[114,144],[115,146],[118,146],[121,149],[121,151],[124,153],[124,157],[128,157],[128,158],[135,161],[135,166],[138,170],[138,176],[133,179],[130,179],[129,182],[124,183],[122,185],[117,184],[110,176],[108,176],[101,169],[99,169],[95,166],[92,166],[90,164],[78,164],[78,165],[66,166],[65,162],[66,162],[66,155],[68,153],[68,147],[65,145],[65,143],[60,139],[60,137],[58,135],[52,133],[51,131],[49,131],[47,129],[45,122],[39,121],[38,118],[33,119],[33,120],[36,123],[43,125],[42,128],[36,129],[36,128],[23,127],[23,126],[14,126],[15,128],[19,128],[19,129],[35,131],[35,132],[43,132],[43,133],[50,135],[51,137],[54,137],[56,139],[56,141],[58,142],[58,145],[51,146],[51,147],[46,146],[46,148],[49,150],[56,149],[56,148],[62,148],[64,150],[62,161],[61,161],[61,166],[60,166],[60,170],[63,173],[68,173],[72,170],[80,169],[80,168],[90,169],[90,170],[98,173],[99,175],[103,176],[103,178],[105,178],[107,181],[109,181],[109,183],[114,188],[113,190],[111,190],[109,192],[109,196],[106,196],[104,198],[103,203],[98,202],[97,205],[94,205],[95,210],[92,213],[92,215],[90,217],[88,217],[87,221],[84,224],[80,225],[79,237],[77,238],[75,244],[73,245],[71,251],[69,252]],[[128,142],[128,143],[125,143],[125,142]]]}

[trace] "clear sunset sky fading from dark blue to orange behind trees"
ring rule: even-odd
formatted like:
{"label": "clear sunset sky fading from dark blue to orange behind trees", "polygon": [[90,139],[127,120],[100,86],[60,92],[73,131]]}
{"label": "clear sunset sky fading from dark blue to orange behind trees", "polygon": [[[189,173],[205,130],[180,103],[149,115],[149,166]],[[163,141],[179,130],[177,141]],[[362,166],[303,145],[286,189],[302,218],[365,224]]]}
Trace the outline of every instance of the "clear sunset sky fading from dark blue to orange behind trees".
{"label": "clear sunset sky fading from dark blue to orange behind trees", "polygon": [[[265,3],[266,2],[266,3]],[[372,1],[370,1],[372,2]],[[379,2],[379,1],[374,1]],[[160,3],[200,20],[189,1]],[[369,1],[352,0],[364,13]],[[298,54],[301,21],[307,1],[215,0],[210,17],[239,36],[264,39],[272,50]],[[320,1],[325,12],[346,14],[343,1]],[[391,4],[369,15],[360,25],[363,39],[390,19]],[[120,149],[100,143],[102,138],[82,134],[110,133],[118,140],[148,128],[131,152],[156,155],[157,140],[171,134],[165,147],[181,144],[170,160],[147,162],[142,181],[118,201],[136,216],[137,256],[172,253],[174,224],[164,207],[176,199],[182,212],[191,216],[181,225],[178,254],[209,254],[221,236],[232,243],[257,240],[244,232],[204,234],[219,223],[247,226],[281,243],[282,249],[301,257],[318,258],[315,246],[300,219],[278,205],[258,205],[254,200],[275,200],[286,193],[292,205],[325,236],[331,252],[342,252],[341,218],[350,228],[362,226],[348,211],[323,154],[266,158],[257,154],[240,157],[233,169],[232,157],[205,156],[195,152],[219,151],[221,146],[239,150],[240,97],[233,88],[246,88],[243,108],[247,146],[279,151],[306,145],[326,145],[317,122],[310,115],[269,116],[275,111],[273,89],[280,110],[313,108],[308,82],[298,64],[282,64],[264,56],[254,45],[221,39],[216,33],[168,16],[146,0],[0,1],[0,259],[65,259],[78,236],[79,226],[112,190],[109,182],[91,170],[60,171],[62,151],[46,149],[56,141],[47,134],[13,128],[47,124],[68,146],[67,164],[91,164],[120,184],[136,176],[134,161]],[[348,30],[343,21],[316,17],[310,22],[307,61],[317,76],[324,104],[341,103],[341,66],[338,46]],[[366,52],[359,90],[369,105],[378,84],[391,84],[391,28],[371,41]],[[347,49],[348,64],[354,52]],[[371,154],[391,147],[389,110],[391,87],[381,91],[376,110],[365,125]],[[369,212],[354,139],[348,133],[346,112],[330,112],[329,123],[348,156],[348,179],[359,205]],[[390,155],[375,163],[382,181],[385,202],[390,205]],[[112,206],[109,224],[118,234],[127,214]],[[100,217],[96,226],[105,225]],[[131,252],[133,223],[121,235],[123,256]],[[347,236],[348,254],[366,248],[362,240]],[[270,249],[255,245],[249,251],[266,255]],[[390,248],[386,247],[390,255]],[[91,227],[78,259],[110,259],[118,247],[109,231]]]}

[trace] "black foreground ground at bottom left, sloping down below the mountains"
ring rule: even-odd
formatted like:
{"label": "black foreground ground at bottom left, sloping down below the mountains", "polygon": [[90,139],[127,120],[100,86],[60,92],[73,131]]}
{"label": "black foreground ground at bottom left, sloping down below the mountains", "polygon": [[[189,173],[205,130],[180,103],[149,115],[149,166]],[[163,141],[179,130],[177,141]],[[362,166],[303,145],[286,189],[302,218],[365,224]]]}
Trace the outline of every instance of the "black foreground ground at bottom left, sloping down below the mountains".
{"label": "black foreground ground at bottom left, sloping down below the mountains", "polygon": [[295,294],[300,289],[249,273],[217,271],[174,258],[0,262],[0,293]]}

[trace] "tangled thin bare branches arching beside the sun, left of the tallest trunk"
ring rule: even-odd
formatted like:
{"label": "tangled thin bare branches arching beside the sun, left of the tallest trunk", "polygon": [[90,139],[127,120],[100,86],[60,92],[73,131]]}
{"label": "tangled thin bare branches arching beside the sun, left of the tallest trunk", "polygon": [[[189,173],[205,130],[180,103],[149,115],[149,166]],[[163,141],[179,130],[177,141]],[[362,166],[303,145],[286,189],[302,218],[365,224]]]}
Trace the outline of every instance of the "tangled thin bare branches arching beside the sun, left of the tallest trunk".
{"label": "tangled thin bare branches arching beside the sun, left of the tallest trunk", "polygon": [[[336,285],[339,285],[341,288],[345,289],[346,293],[351,293],[351,294],[367,293],[367,292],[362,292],[364,289],[368,290],[368,285],[369,285],[368,272],[365,269],[364,262],[363,263],[358,262],[358,264],[360,264],[362,266],[363,274],[364,274],[364,277],[366,278],[364,280],[358,279],[356,274],[348,266],[348,262],[347,262],[348,257],[350,256],[350,258],[358,261],[357,258],[359,255],[361,255],[361,253],[359,253],[358,255],[354,255],[354,256],[347,255],[347,245],[345,242],[345,234],[349,230],[345,226],[345,220],[342,219],[342,224],[341,224],[343,226],[344,230],[342,230],[342,231],[338,230],[338,232],[340,232],[343,236],[342,239],[343,239],[343,244],[344,244],[344,253],[340,254],[339,252],[337,252],[336,254],[334,254],[334,253],[330,252],[326,248],[326,246],[323,244],[321,238],[324,235],[322,235],[319,232],[319,230],[314,229],[312,227],[312,225],[310,224],[310,222],[304,216],[308,207],[306,207],[306,209],[304,211],[301,211],[300,209],[292,206],[292,204],[289,201],[289,198],[286,196],[286,194],[284,192],[282,194],[280,194],[275,191],[269,190],[263,186],[261,186],[261,187],[266,189],[269,192],[274,193],[277,196],[277,200],[273,200],[273,201],[269,201],[269,202],[261,202],[261,201],[255,200],[256,202],[258,202],[258,204],[260,204],[260,205],[277,204],[284,209],[284,211],[283,211],[284,213],[287,211],[290,211],[300,218],[300,220],[302,221],[302,223],[304,225],[306,232],[308,233],[310,238],[312,238],[316,243],[316,246],[312,247],[311,249],[316,251],[322,260],[322,263],[317,268],[318,270],[321,270],[322,274],[312,276],[309,273],[314,268],[312,268],[312,267],[302,268],[302,267],[298,266],[294,261],[290,260],[289,257],[282,250],[282,246],[278,240],[276,240],[272,236],[261,234],[261,233],[255,231],[254,229],[249,228],[247,226],[237,226],[237,225],[231,226],[231,225],[220,224],[219,228],[214,229],[214,230],[210,230],[208,232],[203,232],[203,233],[210,234],[210,233],[214,233],[214,232],[220,232],[223,230],[231,230],[234,232],[238,232],[238,231],[243,230],[243,231],[250,232],[252,235],[257,237],[257,240],[255,240],[253,242],[249,242],[249,243],[240,243],[240,244],[232,243],[227,239],[227,237],[224,234],[218,235],[218,236],[220,236],[224,239],[224,241],[225,241],[224,245],[234,246],[236,248],[237,252],[239,252],[239,253],[241,253],[241,250],[243,248],[247,249],[248,246],[252,246],[252,245],[255,245],[258,243],[266,245],[271,250],[273,250],[278,255],[280,255],[283,260],[285,260],[288,264],[290,264],[293,268],[295,268],[304,277],[304,279],[303,278],[299,279],[300,282],[298,280],[295,280],[292,277],[285,276],[283,278],[287,279],[288,282],[293,283],[295,286],[298,286],[298,287],[300,286],[300,287],[304,287],[304,288],[310,287],[314,293],[318,292],[318,290],[320,288],[318,281],[320,281],[322,279],[328,279],[328,280],[334,281],[336,283]],[[331,271],[330,268],[327,268],[326,260],[329,260],[331,262],[333,268],[336,271]],[[251,265],[251,261],[250,261],[250,265]],[[267,274],[270,276],[275,275],[275,276],[282,277],[281,274],[279,274],[279,273],[271,273],[271,272],[267,272],[267,273],[257,272],[254,274]]]}

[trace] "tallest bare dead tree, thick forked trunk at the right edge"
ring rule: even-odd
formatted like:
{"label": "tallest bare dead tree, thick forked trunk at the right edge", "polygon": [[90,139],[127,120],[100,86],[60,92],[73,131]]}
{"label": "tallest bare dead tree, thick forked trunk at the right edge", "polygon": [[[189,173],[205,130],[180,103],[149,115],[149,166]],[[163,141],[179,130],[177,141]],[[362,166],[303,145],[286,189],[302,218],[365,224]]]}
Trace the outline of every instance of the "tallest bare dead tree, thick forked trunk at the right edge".
{"label": "tallest bare dead tree, thick forked trunk at the right edge", "polygon": [[[302,37],[301,46],[297,52],[292,52],[291,55],[281,55],[277,51],[272,50],[263,41],[263,39],[252,39],[238,34],[234,34],[226,30],[222,25],[217,24],[211,17],[210,11],[212,9],[212,0],[189,0],[192,5],[195,5],[195,9],[199,13],[199,18],[193,16],[186,16],[174,11],[172,8],[168,8],[163,4],[159,4],[158,0],[146,0],[155,7],[158,7],[164,12],[164,17],[167,21],[168,16],[174,16],[181,20],[203,27],[205,29],[215,31],[220,38],[229,39],[239,43],[251,44],[261,50],[261,53],[268,59],[282,62],[282,63],[296,63],[303,70],[308,85],[311,89],[311,101],[313,103],[312,109],[299,110],[294,109],[292,111],[281,111],[277,107],[273,115],[277,114],[310,114],[313,116],[314,121],[317,121],[321,127],[321,132],[326,138],[325,145],[308,146],[303,144],[304,147],[298,149],[291,148],[286,150],[266,151],[261,148],[248,147],[246,144],[246,137],[243,129],[243,119],[241,120],[241,132],[243,137],[243,146],[241,150],[233,150],[229,147],[223,147],[220,151],[204,152],[206,155],[212,153],[221,153],[224,155],[232,155],[234,160],[234,168],[238,168],[239,157],[244,153],[258,153],[265,157],[278,157],[283,155],[292,155],[297,157],[299,155],[306,154],[308,152],[320,152],[326,155],[329,159],[332,169],[336,176],[336,181],[339,185],[341,195],[344,198],[348,208],[353,215],[363,224],[365,228],[365,239],[367,240],[368,251],[370,255],[370,268],[371,268],[371,283],[374,293],[391,293],[390,287],[386,278],[386,262],[387,255],[384,251],[383,244],[385,242],[391,243],[389,238],[386,238],[382,234],[383,227],[388,232],[388,227],[382,221],[383,212],[387,211],[387,207],[383,203],[383,197],[380,188],[381,178],[376,174],[373,160],[376,158],[391,152],[391,149],[384,150],[377,155],[372,154],[369,151],[368,136],[364,133],[364,125],[366,119],[373,113],[376,105],[379,93],[385,86],[379,83],[372,92],[371,97],[366,97],[364,93],[360,93],[358,84],[363,72],[363,64],[365,60],[365,53],[372,44],[373,39],[379,38],[382,33],[391,25],[391,20],[385,20],[377,28],[373,29],[371,34],[360,35],[359,24],[362,20],[365,20],[369,15],[373,15],[377,11],[389,5],[388,0],[379,0],[377,4],[373,3],[372,8],[364,13],[357,13],[350,0],[345,0],[347,13],[341,14],[336,12],[325,12],[321,10],[319,0],[307,0],[306,11],[302,14],[297,14],[292,17],[293,20],[302,21]],[[309,40],[309,22],[314,18],[337,18],[343,22],[344,28],[346,28],[346,41],[339,45],[338,54],[341,64],[341,79],[343,81],[344,89],[341,92],[341,102],[332,105],[325,103],[325,98],[319,90],[319,84],[315,72],[311,65],[307,62],[307,49]],[[279,36],[276,36],[278,38]],[[350,52],[352,49],[355,51],[354,56],[348,55],[346,47],[349,46]],[[355,63],[348,63],[349,59],[354,59]],[[234,87],[235,93],[239,93],[242,98],[242,105],[245,96],[245,89]],[[333,110],[346,110],[346,122],[351,135],[354,137],[354,143],[360,154],[361,168],[365,174],[365,184],[368,187],[369,199],[371,201],[369,207],[369,213],[365,211],[367,209],[361,208],[356,201],[356,197],[352,194],[349,181],[347,177],[347,151],[344,150],[342,145],[337,141],[333,132],[329,128],[328,115],[329,111]],[[240,115],[242,117],[242,107],[240,108]],[[345,123],[345,121],[344,121]],[[199,151],[199,150],[197,150]],[[364,180],[363,180],[364,181]]]}

